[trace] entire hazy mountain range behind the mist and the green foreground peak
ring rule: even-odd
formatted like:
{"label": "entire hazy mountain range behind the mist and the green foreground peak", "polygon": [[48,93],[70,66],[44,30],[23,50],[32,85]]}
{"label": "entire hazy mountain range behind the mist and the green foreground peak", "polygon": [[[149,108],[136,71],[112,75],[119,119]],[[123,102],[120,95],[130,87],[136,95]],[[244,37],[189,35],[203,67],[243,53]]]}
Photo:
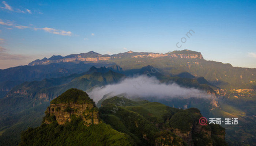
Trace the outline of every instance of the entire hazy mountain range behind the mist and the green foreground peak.
{"label": "entire hazy mountain range behind the mist and the green foreground peak", "polygon": [[[256,127],[255,74],[256,69],[207,61],[201,53],[190,50],[166,54],[128,51],[115,55],[101,55],[90,51],[65,57],[53,55],[49,59],[37,59],[26,66],[0,70],[0,145],[17,145],[20,142],[20,132],[28,127],[40,126],[50,102],[68,89],[77,88],[90,92],[94,88],[116,84],[124,78],[138,75],[154,76],[166,84],[175,82],[180,87],[195,88],[213,95],[215,98],[210,100],[139,99],[157,101],[174,108],[196,107],[203,116],[210,118],[238,117],[240,127],[224,126],[227,128],[226,141],[230,145],[254,145],[256,143],[253,135],[256,133],[252,127]],[[104,101],[107,102],[108,99],[101,100],[97,106],[106,106]],[[106,121],[105,123],[111,125]]]}

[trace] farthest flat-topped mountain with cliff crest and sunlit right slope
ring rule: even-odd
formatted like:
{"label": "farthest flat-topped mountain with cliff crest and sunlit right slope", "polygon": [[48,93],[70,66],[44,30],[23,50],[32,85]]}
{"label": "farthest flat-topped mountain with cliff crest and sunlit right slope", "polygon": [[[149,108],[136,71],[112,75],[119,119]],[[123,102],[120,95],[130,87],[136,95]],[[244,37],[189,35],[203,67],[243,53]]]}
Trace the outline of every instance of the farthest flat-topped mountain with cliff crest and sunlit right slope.
{"label": "farthest flat-topped mountain with cliff crest and sunlit right slope", "polygon": [[[72,54],[56,59],[35,60],[29,65],[47,65],[58,62],[113,63],[123,70],[157,66],[165,75],[187,72],[195,77],[204,77],[212,85],[223,89],[256,89],[256,69],[233,67],[221,62],[206,61],[200,52],[191,50],[172,51],[165,54],[128,51],[114,55],[88,53]],[[184,75],[184,74],[183,74]]]}

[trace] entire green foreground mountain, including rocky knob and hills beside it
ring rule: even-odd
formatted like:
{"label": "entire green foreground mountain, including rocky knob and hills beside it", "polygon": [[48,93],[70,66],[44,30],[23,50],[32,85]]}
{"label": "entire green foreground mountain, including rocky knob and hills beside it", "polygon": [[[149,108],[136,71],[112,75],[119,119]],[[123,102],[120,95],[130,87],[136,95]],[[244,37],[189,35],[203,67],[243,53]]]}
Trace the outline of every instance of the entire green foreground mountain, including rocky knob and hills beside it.
{"label": "entire green foreground mountain, including rocky knob and hills beside it", "polygon": [[[112,112],[116,104],[120,106]],[[22,133],[20,146],[226,146],[225,129],[201,126],[196,108],[179,110],[113,97],[98,109],[85,92],[69,89],[52,100],[45,113],[40,127]]]}

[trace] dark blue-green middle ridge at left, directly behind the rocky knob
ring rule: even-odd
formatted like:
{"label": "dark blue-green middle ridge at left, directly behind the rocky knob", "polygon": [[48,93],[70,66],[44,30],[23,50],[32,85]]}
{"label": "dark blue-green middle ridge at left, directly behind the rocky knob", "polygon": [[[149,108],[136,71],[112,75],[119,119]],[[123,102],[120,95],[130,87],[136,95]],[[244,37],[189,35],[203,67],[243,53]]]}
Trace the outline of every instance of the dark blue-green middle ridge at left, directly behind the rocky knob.
{"label": "dark blue-green middle ridge at left, directly behind the rocky knob", "polygon": [[89,70],[67,77],[24,82],[12,88],[7,97],[0,99],[0,145],[16,145],[20,141],[19,133],[29,126],[38,126],[49,102],[64,91],[70,88],[88,90],[94,86],[115,83],[123,78],[123,74],[112,71],[115,68],[118,67],[98,68],[95,72]]}

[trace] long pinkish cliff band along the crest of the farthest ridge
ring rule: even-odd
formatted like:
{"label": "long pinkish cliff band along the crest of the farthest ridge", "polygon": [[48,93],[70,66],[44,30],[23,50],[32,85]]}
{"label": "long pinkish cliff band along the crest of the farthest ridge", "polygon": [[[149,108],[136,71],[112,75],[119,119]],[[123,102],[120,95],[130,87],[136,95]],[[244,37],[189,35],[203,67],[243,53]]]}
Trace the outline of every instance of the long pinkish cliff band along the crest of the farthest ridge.
{"label": "long pinkish cliff band along the crest of the farthest ridge", "polygon": [[113,61],[114,59],[120,58],[159,58],[159,57],[169,57],[169,58],[186,58],[186,59],[203,59],[203,56],[200,52],[190,51],[190,50],[182,50],[182,51],[173,51],[171,53],[147,53],[147,52],[133,52],[128,51],[125,53],[119,53],[114,55],[101,55],[99,53],[95,53],[90,51],[88,53],[74,54],[68,55],[65,57],[62,56],[52,56],[47,59],[37,59],[29,65],[46,65],[51,63],[59,63],[59,62],[98,62],[98,61]]}

